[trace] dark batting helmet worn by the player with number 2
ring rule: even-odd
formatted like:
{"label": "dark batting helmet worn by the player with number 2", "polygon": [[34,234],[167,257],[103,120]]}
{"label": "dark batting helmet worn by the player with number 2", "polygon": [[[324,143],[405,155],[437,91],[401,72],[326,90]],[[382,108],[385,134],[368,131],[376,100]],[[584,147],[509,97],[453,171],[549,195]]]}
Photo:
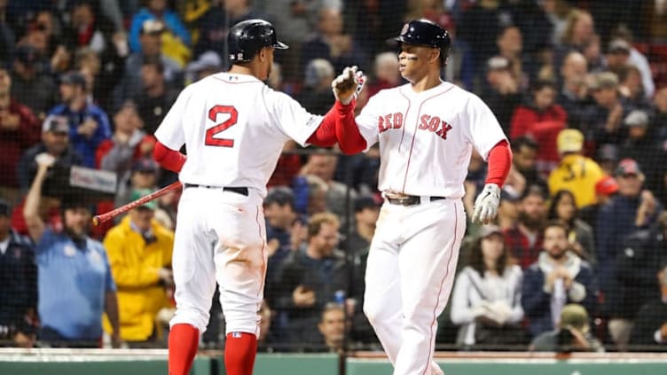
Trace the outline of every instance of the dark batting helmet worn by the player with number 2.
{"label": "dark batting helmet worn by the player with number 2", "polygon": [[278,40],[276,29],[265,20],[244,20],[231,27],[227,49],[231,63],[247,62],[264,47],[286,50],[287,44]]}

